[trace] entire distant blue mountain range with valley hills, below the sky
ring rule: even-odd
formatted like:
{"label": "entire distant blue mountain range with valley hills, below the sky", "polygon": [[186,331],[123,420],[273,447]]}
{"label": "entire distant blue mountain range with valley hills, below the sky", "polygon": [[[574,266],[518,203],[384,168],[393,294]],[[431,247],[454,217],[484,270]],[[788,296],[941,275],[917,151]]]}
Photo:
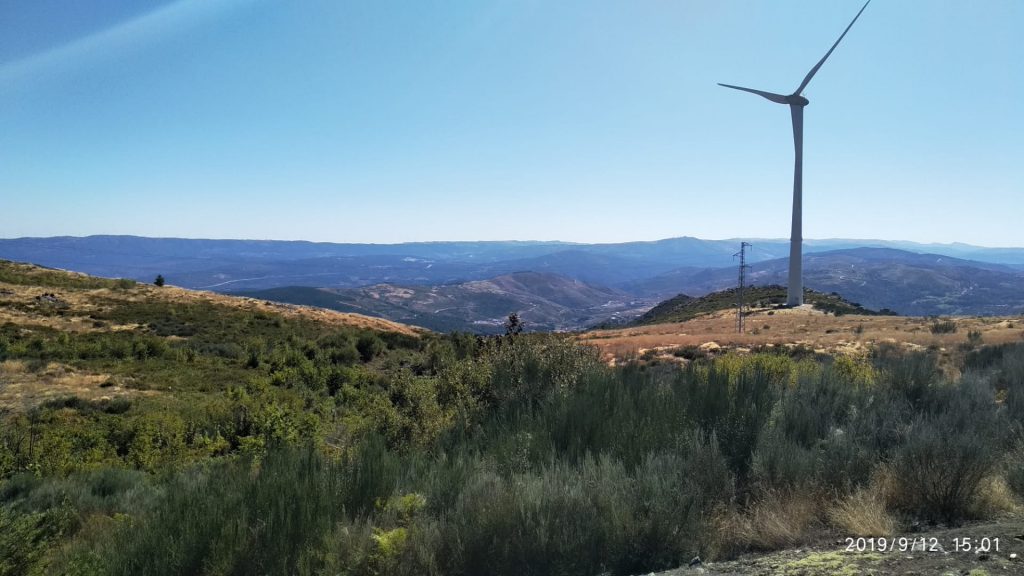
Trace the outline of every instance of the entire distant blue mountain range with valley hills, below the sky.
{"label": "entire distant blue mountain range with valley hills, below the sky", "polygon": [[[788,242],[753,239],[750,282],[785,281]],[[739,240],[330,244],[131,236],[0,240],[0,258],[493,331],[629,320],[666,298],[734,286]],[[1024,312],[1024,248],[805,241],[805,285],[905,315]],[[521,274],[534,273],[534,274]]]}

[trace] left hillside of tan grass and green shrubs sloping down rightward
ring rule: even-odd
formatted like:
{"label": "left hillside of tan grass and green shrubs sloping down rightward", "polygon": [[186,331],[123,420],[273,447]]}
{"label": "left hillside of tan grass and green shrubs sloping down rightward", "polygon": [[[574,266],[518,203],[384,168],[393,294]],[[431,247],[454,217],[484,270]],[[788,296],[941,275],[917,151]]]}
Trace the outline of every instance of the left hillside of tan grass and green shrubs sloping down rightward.
{"label": "left hillside of tan grass and green shrubs sloping down rightward", "polygon": [[[274,304],[0,260],[0,410],[47,399],[222,389],[268,340],[425,331],[357,314]],[[395,340],[397,341],[397,340]]]}

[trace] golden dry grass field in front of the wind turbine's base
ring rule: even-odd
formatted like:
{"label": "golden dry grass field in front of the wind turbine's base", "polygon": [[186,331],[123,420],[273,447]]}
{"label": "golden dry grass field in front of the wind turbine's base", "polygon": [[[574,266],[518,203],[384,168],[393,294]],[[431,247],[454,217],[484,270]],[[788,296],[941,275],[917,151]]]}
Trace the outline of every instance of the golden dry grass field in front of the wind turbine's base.
{"label": "golden dry grass field in front of the wind turbine's base", "polygon": [[[772,314],[769,315],[769,312]],[[808,305],[791,310],[755,310],[745,319],[746,332],[736,333],[735,312],[719,312],[672,324],[617,330],[594,330],[579,336],[600,348],[603,358],[622,362],[653,349],[662,358],[679,346],[699,346],[714,342],[727,349],[750,349],[763,345],[806,345],[820,353],[862,355],[884,342],[909,349],[932,347],[946,355],[957,354],[968,341],[968,332],[977,331],[986,344],[1017,342],[1024,338],[1024,317],[953,319],[957,331],[933,334],[934,320],[921,317],[831,316]]]}

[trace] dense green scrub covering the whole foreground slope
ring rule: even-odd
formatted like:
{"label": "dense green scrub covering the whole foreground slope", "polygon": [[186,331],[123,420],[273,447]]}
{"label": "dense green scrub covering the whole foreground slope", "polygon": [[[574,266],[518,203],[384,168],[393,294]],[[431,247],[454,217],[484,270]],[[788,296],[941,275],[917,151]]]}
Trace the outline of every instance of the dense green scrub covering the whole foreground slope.
{"label": "dense green scrub covering the whole foreground slope", "polygon": [[895,348],[609,368],[552,335],[96,315],[137,328],[0,330],[146,388],[0,415],[0,574],[635,574],[1024,496],[1021,344],[955,378]]}

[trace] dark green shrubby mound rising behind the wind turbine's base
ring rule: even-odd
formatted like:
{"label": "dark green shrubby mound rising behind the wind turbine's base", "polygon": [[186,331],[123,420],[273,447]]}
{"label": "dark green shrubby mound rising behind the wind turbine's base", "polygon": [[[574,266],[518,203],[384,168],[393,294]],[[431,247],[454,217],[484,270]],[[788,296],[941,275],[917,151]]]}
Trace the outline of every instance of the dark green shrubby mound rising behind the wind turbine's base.
{"label": "dark green shrubby mound rising behind the wind turbine's base", "polygon": [[[669,322],[685,322],[698,316],[721,312],[735,311],[738,305],[738,289],[729,288],[712,292],[699,297],[679,294],[658,303],[643,316],[636,319],[632,326],[650,324],[666,324]],[[750,286],[743,290],[744,306],[750,308],[782,307],[785,304],[786,289],[784,286]],[[850,302],[837,293],[823,294],[809,288],[804,290],[804,302],[814,310],[841,316],[856,314],[865,316],[892,315],[891,311],[876,312]]]}

